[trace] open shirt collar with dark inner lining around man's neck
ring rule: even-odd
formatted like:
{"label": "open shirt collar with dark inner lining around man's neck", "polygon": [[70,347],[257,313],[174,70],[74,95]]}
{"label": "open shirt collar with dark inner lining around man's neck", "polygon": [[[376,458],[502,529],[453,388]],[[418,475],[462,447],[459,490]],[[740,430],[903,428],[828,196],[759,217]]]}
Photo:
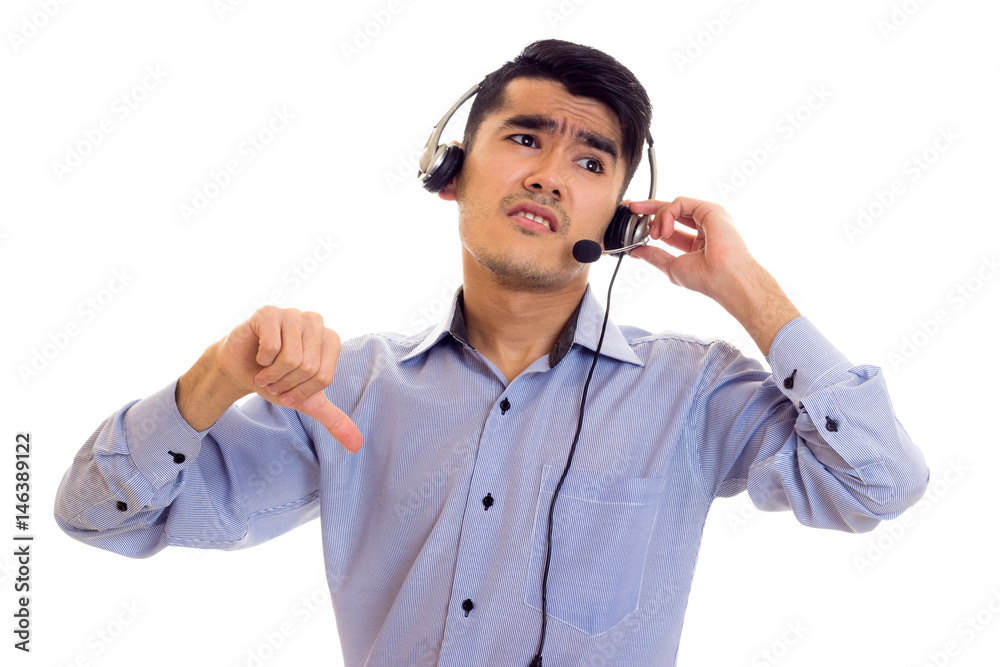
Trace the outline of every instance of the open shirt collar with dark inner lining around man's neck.
{"label": "open shirt collar with dark inner lining around man's neck", "polygon": [[[451,307],[448,309],[447,315],[434,328],[427,332],[427,335],[420,341],[420,344],[403,357],[402,361],[420,356],[440,342],[442,338],[449,335],[463,345],[471,348],[472,346],[469,345],[468,340],[468,330],[465,327],[464,305],[462,287],[459,287],[455,290],[455,295],[451,299]],[[591,351],[596,350],[603,322],[604,309],[597,303],[597,299],[594,297],[593,291],[588,284],[583,298],[580,299],[576,310],[573,311],[569,321],[566,323],[566,327],[559,334],[555,346],[549,353],[549,368],[554,368],[556,364],[562,361],[563,357],[566,356],[574,344],[582,345]],[[608,328],[604,332],[601,355],[638,366],[643,365],[639,357],[632,351],[621,329],[610,319],[608,320]]]}

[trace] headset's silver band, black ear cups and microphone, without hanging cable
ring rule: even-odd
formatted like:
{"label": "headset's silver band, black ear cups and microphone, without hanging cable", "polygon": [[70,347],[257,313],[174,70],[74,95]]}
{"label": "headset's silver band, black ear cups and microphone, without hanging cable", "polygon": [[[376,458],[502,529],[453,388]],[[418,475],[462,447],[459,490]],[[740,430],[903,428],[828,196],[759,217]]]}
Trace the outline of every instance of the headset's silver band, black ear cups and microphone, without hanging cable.
{"label": "headset's silver band, black ear cups and microphone, without hanging cable", "polygon": [[[452,105],[437,125],[431,131],[431,136],[424,145],[424,152],[420,156],[420,169],[417,178],[428,192],[440,192],[451,180],[458,175],[462,169],[462,162],[465,160],[465,151],[454,144],[440,144],[441,134],[445,125],[455,115],[458,108],[470,97],[479,92],[480,87],[485,83],[485,79],[467,90],[462,97]],[[649,145],[647,153],[649,157],[649,197],[656,198],[656,152],[653,150],[653,137],[647,135],[646,143]],[[594,262],[600,259],[601,255],[614,255],[628,252],[633,248],[646,245],[649,242],[649,223],[653,216],[639,215],[632,213],[628,206],[619,205],[615,214],[608,222],[604,232],[604,248],[600,249],[593,241],[577,243],[573,248],[573,256],[580,262]],[[596,254],[595,254],[596,253]]]}

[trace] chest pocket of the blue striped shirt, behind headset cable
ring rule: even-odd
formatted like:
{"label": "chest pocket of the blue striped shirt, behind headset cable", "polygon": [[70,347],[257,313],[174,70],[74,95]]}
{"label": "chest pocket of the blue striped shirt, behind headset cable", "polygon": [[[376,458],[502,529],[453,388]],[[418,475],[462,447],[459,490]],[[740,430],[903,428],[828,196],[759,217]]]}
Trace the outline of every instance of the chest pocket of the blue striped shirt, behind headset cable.
{"label": "chest pocket of the blue striped shirt, behind headset cable", "polygon": [[[562,468],[542,468],[524,602],[542,609],[549,505]],[[552,517],[546,611],[590,636],[607,632],[639,606],[639,588],[662,477],[566,474]]]}

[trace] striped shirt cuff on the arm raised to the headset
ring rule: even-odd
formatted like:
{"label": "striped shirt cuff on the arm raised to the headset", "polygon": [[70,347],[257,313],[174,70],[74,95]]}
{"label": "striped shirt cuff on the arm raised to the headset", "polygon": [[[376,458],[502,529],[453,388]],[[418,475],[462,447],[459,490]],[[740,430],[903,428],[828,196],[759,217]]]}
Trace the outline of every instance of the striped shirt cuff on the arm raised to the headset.
{"label": "striped shirt cuff on the arm raised to the headset", "polygon": [[778,390],[800,411],[803,399],[850,379],[853,367],[804,315],[778,331],[766,359]]}

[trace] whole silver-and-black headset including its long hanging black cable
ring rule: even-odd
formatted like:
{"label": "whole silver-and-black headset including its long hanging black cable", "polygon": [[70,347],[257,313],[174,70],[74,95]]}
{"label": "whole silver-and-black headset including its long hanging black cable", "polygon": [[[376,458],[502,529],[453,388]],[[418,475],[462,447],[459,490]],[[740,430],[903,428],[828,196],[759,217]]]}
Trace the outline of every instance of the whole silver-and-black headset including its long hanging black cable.
{"label": "whole silver-and-black headset including its long hanging black cable", "polygon": [[[435,125],[434,129],[431,131],[431,136],[427,139],[427,144],[424,146],[424,152],[420,156],[420,170],[417,172],[417,177],[420,179],[424,188],[429,192],[437,193],[443,190],[445,186],[451,183],[451,180],[455,178],[455,176],[458,175],[458,172],[462,169],[462,163],[465,160],[465,151],[454,144],[442,145],[438,142],[441,141],[441,133],[444,131],[444,127],[447,125],[451,117],[455,115],[455,112],[466,100],[479,91],[484,82],[485,79],[467,90],[465,94],[462,95],[462,97],[460,97],[450,109],[448,109],[444,117],[438,121],[438,124]],[[646,136],[646,143],[649,145],[649,199],[655,199],[656,153],[653,151],[653,137],[651,134]],[[569,456],[566,459],[566,466],[563,468],[562,477],[559,478],[559,483],[556,485],[555,491],[552,494],[552,504],[549,505],[549,529],[545,547],[545,570],[542,574],[541,636],[538,641],[538,650],[528,667],[542,667],[542,650],[545,647],[545,630],[547,624],[546,622],[548,620],[548,615],[546,613],[546,595],[549,579],[549,563],[552,556],[553,514],[555,512],[556,499],[559,497],[559,491],[562,489],[563,481],[566,479],[566,473],[569,472],[569,467],[573,463],[573,454],[576,452],[576,444],[580,439],[580,431],[583,428],[583,414],[587,405],[587,390],[590,388],[590,379],[594,375],[594,368],[597,366],[597,359],[601,353],[601,346],[604,344],[604,333],[608,326],[608,314],[611,312],[611,289],[615,284],[615,277],[618,275],[618,269],[621,267],[621,262],[625,255],[633,248],[638,248],[639,246],[649,243],[649,223],[651,218],[651,215],[639,215],[637,213],[632,213],[628,209],[628,206],[619,205],[615,210],[614,215],[611,217],[611,220],[608,222],[607,228],[605,229],[603,249],[600,244],[589,239],[577,241],[573,246],[573,257],[578,262],[596,262],[602,255],[618,255],[618,264],[615,266],[615,271],[611,275],[611,282],[608,285],[608,303],[604,309],[604,323],[601,325],[601,335],[597,341],[597,350],[594,352],[594,358],[590,365],[590,371],[587,373],[587,381],[583,385],[583,395],[580,399],[580,413],[576,424],[576,434],[573,436],[573,444],[570,445]]]}

